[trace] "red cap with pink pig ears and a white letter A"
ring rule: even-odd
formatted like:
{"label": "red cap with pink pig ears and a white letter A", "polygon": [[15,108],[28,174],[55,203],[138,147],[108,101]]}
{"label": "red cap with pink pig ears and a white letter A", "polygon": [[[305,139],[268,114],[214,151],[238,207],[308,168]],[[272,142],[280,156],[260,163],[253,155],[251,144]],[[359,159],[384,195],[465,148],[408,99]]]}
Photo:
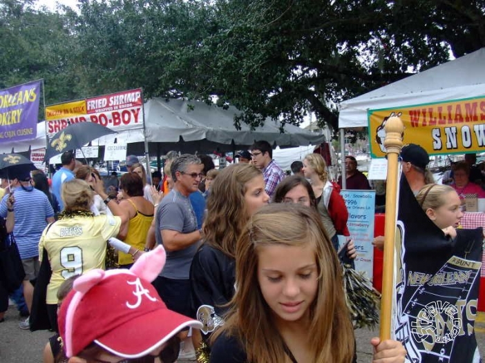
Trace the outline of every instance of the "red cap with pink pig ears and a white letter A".
{"label": "red cap with pink pig ears and a white letter A", "polygon": [[57,320],[66,356],[95,342],[119,357],[142,357],[182,328],[202,328],[197,320],[169,310],[151,285],[165,259],[158,246],[129,270],[96,269],[78,277]]}

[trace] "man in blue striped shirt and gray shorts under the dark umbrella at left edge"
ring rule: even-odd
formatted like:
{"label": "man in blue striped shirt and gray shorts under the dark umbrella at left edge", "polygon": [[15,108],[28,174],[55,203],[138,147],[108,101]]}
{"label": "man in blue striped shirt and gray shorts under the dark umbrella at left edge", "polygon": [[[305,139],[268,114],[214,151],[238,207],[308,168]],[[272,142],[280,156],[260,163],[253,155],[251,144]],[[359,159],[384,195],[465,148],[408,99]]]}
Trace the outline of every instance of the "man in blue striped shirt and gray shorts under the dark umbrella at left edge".
{"label": "man in blue striped shirt and gray shorts under the dark umbrella at left edge", "polygon": [[[39,239],[48,223],[54,222],[54,210],[47,196],[30,185],[30,172],[24,171],[14,175],[12,181],[12,194],[15,202],[12,208],[7,205],[10,193],[1,199],[0,217],[6,218],[14,215],[15,242],[19,247],[20,258],[26,277],[23,280],[23,295],[26,298],[28,309],[32,307],[34,287],[30,280],[39,273]],[[28,329],[28,318],[20,322],[20,328]]]}

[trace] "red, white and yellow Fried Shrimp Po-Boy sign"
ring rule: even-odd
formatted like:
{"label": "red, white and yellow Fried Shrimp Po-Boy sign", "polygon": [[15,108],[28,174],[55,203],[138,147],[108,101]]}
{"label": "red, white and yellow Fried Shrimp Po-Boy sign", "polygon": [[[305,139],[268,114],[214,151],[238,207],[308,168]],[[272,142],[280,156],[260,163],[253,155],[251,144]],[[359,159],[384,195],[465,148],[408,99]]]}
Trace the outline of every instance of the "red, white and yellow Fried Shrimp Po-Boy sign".
{"label": "red, white and yellow Fried Shrimp Po-Boy sign", "polygon": [[115,131],[143,128],[142,90],[127,90],[46,107],[47,135],[68,124],[95,122]]}

